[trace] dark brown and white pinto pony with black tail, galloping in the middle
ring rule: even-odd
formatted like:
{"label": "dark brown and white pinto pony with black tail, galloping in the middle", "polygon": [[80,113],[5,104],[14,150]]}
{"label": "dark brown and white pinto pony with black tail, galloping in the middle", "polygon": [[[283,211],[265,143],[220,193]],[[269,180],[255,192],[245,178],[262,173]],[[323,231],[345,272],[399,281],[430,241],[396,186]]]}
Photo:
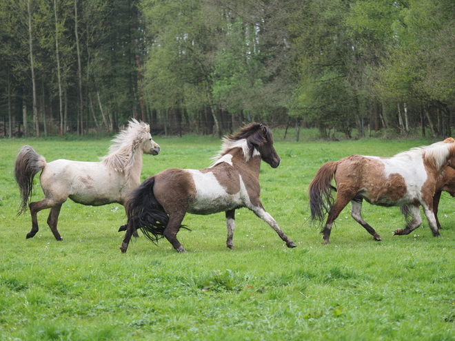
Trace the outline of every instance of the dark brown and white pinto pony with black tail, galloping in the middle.
{"label": "dark brown and white pinto pony with black tail, galloping in the middle", "polygon": [[185,252],[176,235],[186,212],[214,214],[225,211],[228,239],[232,237],[235,210],[251,209],[276,231],[287,247],[296,245],[283,233],[274,218],[265,211],[259,194],[261,160],[272,168],[280,164],[273,146],[272,132],[260,123],[251,123],[224,139],[214,164],[206,169],[166,169],[150,176],[134,189],[125,207],[128,216],[125,238],[120,247],[128,249],[131,235],[141,229],[153,242],[165,237],[178,252]]}

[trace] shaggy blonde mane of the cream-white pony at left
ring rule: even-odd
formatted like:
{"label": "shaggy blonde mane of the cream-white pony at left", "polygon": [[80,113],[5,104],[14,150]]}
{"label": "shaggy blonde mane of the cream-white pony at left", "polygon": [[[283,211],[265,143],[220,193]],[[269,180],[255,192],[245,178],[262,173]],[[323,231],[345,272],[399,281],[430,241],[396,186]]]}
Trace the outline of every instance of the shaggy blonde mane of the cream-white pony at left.
{"label": "shaggy blonde mane of the cream-white pony at left", "polygon": [[149,133],[150,126],[147,123],[132,118],[128,127],[112,139],[109,154],[100,158],[101,162],[110,169],[124,173],[128,182],[138,147],[147,140]]}

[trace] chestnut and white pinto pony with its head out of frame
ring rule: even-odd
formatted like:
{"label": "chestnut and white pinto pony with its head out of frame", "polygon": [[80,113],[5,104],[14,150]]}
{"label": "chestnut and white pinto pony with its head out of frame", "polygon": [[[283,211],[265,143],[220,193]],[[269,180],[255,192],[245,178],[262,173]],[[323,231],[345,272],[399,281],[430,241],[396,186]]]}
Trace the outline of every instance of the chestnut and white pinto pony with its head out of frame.
{"label": "chestnut and white pinto pony with its head out of frame", "polygon": [[[455,166],[455,140],[433,143],[426,147],[413,148],[392,158],[351,155],[340,161],[325,163],[310,183],[310,210],[312,220],[327,221],[321,231],[325,244],[329,243],[334,220],[347,203],[351,202],[351,216],[374,238],[381,237],[362,218],[362,201],[372,205],[402,206],[412,219],[405,229],[396,229],[394,234],[410,234],[419,227],[422,205],[433,236],[440,236],[433,211],[433,196],[436,180],[445,167]],[[334,178],[336,187],[331,185]],[[336,200],[332,196],[336,191]]]}

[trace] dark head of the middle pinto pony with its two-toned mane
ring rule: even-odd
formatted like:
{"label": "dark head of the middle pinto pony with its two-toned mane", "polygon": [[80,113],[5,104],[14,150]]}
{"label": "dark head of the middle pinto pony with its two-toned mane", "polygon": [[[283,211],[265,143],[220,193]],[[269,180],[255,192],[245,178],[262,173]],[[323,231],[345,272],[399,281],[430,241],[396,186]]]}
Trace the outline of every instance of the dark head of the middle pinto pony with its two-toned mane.
{"label": "dark head of the middle pinto pony with its two-toned mane", "polygon": [[280,164],[281,158],[273,146],[272,132],[263,123],[250,123],[242,127],[240,132],[225,136],[221,152],[214,157],[214,160],[218,160],[234,147],[242,149],[245,161],[249,161],[252,156],[261,156],[261,159],[272,168]]}

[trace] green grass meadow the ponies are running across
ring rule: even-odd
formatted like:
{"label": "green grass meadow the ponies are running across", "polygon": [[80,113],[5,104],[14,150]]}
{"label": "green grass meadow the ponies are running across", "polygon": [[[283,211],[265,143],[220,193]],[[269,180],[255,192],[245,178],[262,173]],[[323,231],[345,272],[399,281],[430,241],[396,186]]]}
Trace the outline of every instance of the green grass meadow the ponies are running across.
{"label": "green grass meadow the ponies are running across", "polygon": [[[350,154],[392,156],[432,141],[280,141],[281,165],[261,169],[261,200],[296,242],[287,249],[247,209],[236,211],[235,250],[225,247],[224,214],[183,221],[187,254],[144,237],[126,254],[117,229],[123,207],[68,200],[57,242],[41,229],[26,240],[30,214],[16,216],[12,169],[19,147],[48,161],[97,161],[108,138],[90,141],[0,141],[0,340],[455,340],[455,213],[443,195],[442,238],[423,227],[392,236],[404,219],[397,207],[365,204],[370,234],[346,207],[323,245],[308,222],[307,186],[325,161]],[[301,132],[301,138],[305,132]],[[170,167],[203,168],[220,141],[156,136],[159,156],[144,156],[142,178]],[[32,200],[42,197],[37,178]]]}

